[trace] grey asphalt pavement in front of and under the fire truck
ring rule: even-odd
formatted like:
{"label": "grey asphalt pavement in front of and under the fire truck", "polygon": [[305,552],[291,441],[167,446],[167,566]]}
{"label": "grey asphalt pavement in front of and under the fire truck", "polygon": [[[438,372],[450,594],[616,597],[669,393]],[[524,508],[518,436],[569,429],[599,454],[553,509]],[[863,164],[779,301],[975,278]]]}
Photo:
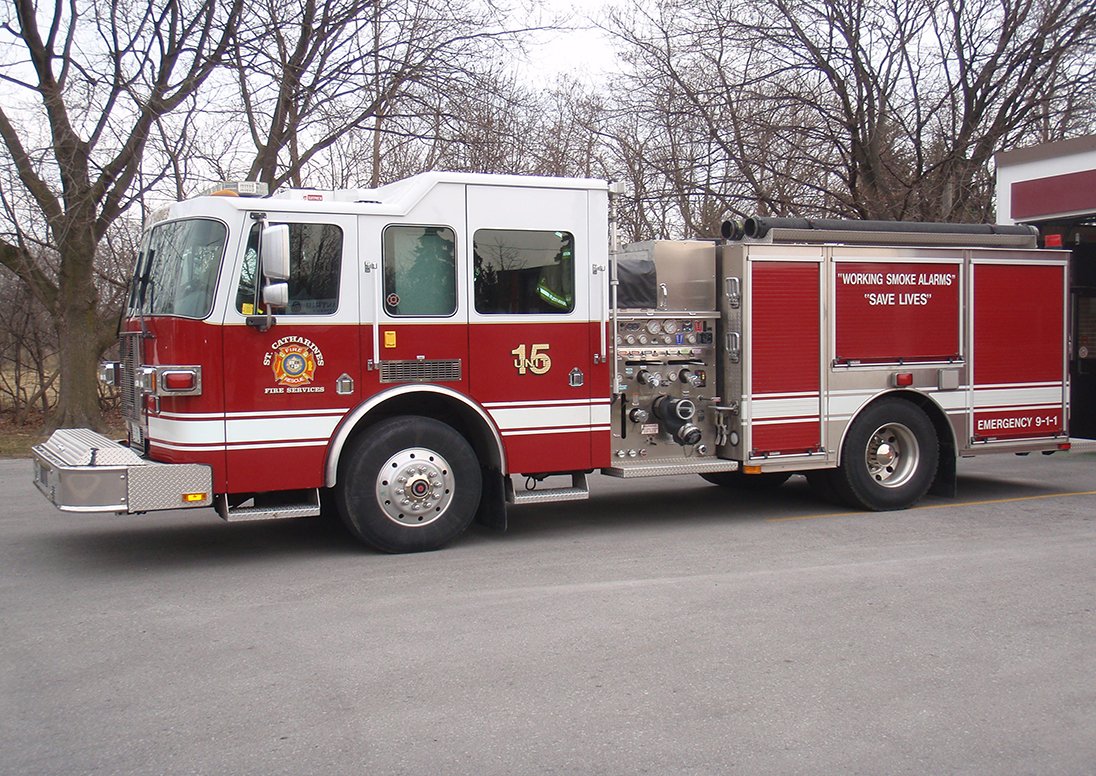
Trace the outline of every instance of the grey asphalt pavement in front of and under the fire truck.
{"label": "grey asphalt pavement in front of and under the fire truck", "polygon": [[592,478],[438,552],[0,461],[0,772],[1096,773],[1096,455],[870,514]]}

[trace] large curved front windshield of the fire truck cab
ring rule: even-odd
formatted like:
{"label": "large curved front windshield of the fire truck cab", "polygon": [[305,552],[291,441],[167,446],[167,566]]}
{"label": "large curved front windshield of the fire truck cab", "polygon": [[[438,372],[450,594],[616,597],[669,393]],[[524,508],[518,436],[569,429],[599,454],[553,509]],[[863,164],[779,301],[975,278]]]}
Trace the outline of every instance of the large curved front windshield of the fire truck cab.
{"label": "large curved front windshield of the fire truck cab", "polygon": [[205,318],[213,309],[227,229],[207,218],[169,221],[146,236],[129,294],[129,311]]}

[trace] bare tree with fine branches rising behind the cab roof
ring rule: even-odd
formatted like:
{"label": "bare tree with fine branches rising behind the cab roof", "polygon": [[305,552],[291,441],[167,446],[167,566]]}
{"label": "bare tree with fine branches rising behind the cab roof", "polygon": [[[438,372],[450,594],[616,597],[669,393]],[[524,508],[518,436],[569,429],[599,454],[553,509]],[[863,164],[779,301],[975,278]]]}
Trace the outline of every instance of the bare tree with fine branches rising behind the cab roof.
{"label": "bare tree with fine branches rising behind the cab roof", "polygon": [[248,178],[301,185],[350,157],[368,162],[364,182],[378,185],[386,150],[452,129],[453,96],[487,90],[496,55],[524,31],[490,0],[249,5],[232,47],[254,149]]}

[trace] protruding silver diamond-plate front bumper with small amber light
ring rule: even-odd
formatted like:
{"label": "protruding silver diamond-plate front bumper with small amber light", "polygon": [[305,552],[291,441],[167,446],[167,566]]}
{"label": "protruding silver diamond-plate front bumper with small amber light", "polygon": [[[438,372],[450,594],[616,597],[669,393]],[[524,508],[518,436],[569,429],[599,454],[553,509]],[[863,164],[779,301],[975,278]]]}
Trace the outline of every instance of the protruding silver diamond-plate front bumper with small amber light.
{"label": "protruding silver diamond-plate front bumper with small amber light", "polygon": [[158,464],[89,429],[35,445],[34,484],[65,512],[153,512],[213,504],[204,464]]}

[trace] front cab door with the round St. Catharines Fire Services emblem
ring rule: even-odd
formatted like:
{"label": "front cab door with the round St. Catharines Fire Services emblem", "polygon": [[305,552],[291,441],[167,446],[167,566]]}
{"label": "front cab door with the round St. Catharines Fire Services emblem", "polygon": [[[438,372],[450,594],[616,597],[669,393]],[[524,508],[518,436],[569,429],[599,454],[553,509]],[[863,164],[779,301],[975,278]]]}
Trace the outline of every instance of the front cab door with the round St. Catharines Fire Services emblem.
{"label": "front cab door with the round St. Catharines Fire Services emblem", "polygon": [[[256,326],[251,227],[225,315],[228,491],[323,484],[328,441],[361,400],[357,229],[353,216],[270,214],[289,226],[288,304]],[[252,319],[249,324],[249,317]]]}

